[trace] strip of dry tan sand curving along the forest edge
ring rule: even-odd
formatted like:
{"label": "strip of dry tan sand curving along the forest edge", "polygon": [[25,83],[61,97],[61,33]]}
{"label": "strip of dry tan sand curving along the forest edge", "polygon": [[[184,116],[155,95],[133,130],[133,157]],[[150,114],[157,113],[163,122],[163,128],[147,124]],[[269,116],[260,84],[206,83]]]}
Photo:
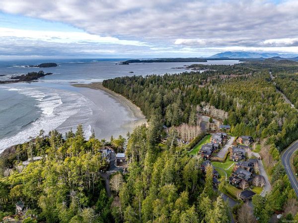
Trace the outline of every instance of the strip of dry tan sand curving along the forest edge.
{"label": "strip of dry tan sand curving along the forest edge", "polygon": [[104,91],[109,96],[113,97],[114,99],[119,101],[122,105],[124,105],[130,111],[131,115],[134,118],[138,119],[138,123],[147,124],[147,118],[145,117],[145,115],[143,114],[143,112],[141,111],[141,109],[137,105],[135,105],[133,102],[131,102],[130,100],[128,100],[124,96],[122,96],[120,94],[117,94],[114,91],[104,87],[102,85],[102,82],[75,83],[75,84],[72,84],[72,86],[74,86],[74,87],[85,87],[85,88],[90,88],[90,89],[94,89],[94,90]]}

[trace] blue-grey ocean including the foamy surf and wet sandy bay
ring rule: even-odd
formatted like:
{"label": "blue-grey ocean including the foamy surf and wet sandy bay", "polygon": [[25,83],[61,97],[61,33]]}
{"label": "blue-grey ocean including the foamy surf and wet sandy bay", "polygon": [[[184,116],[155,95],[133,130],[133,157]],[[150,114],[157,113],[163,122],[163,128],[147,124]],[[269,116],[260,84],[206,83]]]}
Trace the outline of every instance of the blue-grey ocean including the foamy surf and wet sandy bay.
{"label": "blue-grey ocean including the foamy surf and wet sandy bay", "polygon": [[[94,130],[98,139],[126,136],[138,121],[129,109],[104,91],[74,87],[74,83],[99,82],[117,76],[174,74],[173,69],[194,63],[139,63],[120,65],[126,59],[5,60],[0,61],[0,80],[32,71],[53,73],[33,82],[0,84],[0,152],[34,138],[43,129],[61,133],[81,123],[85,137]],[[55,68],[27,65],[57,63]],[[238,61],[208,61],[196,64],[227,64]],[[133,72],[133,73],[130,73]]]}

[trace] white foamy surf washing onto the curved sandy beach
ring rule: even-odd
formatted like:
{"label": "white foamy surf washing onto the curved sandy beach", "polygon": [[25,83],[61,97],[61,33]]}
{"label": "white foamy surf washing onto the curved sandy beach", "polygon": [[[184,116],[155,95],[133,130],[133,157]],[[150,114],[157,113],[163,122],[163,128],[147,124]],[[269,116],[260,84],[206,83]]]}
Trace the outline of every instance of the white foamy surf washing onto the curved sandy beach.
{"label": "white foamy surf washing onto the curved sandy beach", "polygon": [[[5,88],[5,87],[4,87]],[[30,123],[28,126],[11,137],[0,140],[0,152],[10,146],[27,142],[30,137],[38,136],[39,131],[43,129],[46,134],[53,129],[61,133],[75,129],[76,125],[83,124],[86,137],[91,135],[91,126],[88,119],[92,116],[90,101],[77,93],[40,87],[6,87],[8,91],[17,91],[17,93],[26,95],[36,100],[36,107],[40,110],[40,117]],[[75,120],[68,122],[70,118]]]}

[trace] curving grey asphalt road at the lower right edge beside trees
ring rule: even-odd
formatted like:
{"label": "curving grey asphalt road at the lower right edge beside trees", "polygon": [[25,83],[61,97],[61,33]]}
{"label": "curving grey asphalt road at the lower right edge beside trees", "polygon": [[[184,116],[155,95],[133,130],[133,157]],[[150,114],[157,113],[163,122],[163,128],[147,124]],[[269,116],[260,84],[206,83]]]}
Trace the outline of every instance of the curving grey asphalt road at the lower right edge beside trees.
{"label": "curving grey asphalt road at the lower right edge beside trees", "polygon": [[286,172],[289,176],[289,180],[291,182],[291,185],[293,189],[296,192],[296,195],[298,197],[298,180],[291,168],[291,156],[293,153],[298,149],[298,140],[292,143],[283,153],[282,153],[282,162],[285,166]]}

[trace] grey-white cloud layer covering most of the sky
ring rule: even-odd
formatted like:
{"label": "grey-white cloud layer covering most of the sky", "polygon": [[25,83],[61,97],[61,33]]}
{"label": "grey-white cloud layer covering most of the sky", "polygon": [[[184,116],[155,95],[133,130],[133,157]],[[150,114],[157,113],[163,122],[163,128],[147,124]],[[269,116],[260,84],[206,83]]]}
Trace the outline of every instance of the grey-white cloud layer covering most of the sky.
{"label": "grey-white cloud layer covering most of the sky", "polygon": [[206,56],[223,49],[294,52],[298,45],[297,0],[1,0],[0,10],[84,30],[0,29],[1,37],[11,32],[13,37],[56,46],[93,43],[102,48],[108,44],[104,48],[109,52],[123,55],[187,52]]}

